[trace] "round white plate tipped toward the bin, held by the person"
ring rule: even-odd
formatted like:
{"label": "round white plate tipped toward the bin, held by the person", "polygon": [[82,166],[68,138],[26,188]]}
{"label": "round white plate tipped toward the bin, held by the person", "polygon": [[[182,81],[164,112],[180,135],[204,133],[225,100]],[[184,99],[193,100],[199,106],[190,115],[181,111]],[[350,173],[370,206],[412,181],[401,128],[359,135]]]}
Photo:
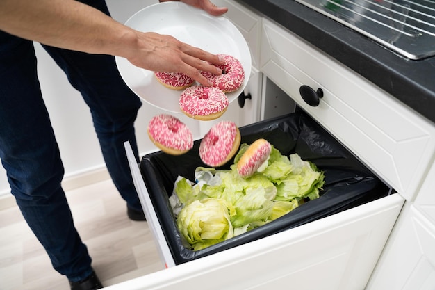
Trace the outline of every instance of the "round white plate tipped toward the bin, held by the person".
{"label": "round white plate tipped toward the bin, held by the person", "polygon": [[[214,17],[185,3],[170,1],[138,11],[125,24],[142,32],[172,35],[212,54],[238,58],[245,70],[245,82],[236,92],[227,94],[229,102],[243,92],[251,74],[251,54],[245,38],[227,18]],[[116,56],[115,60],[122,79],[136,95],[165,111],[181,113],[179,96],[183,90],[165,88],[158,83],[154,72],[136,67],[125,58]]]}

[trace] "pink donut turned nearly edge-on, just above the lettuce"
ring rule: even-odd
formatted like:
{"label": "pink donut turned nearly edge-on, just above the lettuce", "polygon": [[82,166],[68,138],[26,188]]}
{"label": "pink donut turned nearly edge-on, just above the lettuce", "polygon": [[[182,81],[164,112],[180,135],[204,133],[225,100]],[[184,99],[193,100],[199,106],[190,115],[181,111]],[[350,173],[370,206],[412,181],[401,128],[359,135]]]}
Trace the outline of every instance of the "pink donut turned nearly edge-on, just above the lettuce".
{"label": "pink donut turned nearly edge-on, just above the lettuce", "polygon": [[237,163],[237,172],[241,177],[249,177],[269,158],[272,147],[264,139],[252,143]]}

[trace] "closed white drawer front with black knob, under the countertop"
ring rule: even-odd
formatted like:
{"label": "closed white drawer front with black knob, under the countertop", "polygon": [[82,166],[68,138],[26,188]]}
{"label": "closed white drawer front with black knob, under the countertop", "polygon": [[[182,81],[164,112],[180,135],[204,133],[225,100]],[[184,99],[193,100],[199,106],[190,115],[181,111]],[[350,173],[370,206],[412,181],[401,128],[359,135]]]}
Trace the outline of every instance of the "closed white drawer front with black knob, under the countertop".
{"label": "closed white drawer front with black knob, under the countertop", "polygon": [[[260,70],[381,179],[407,200],[415,197],[435,152],[432,123],[268,19]],[[302,85],[322,88],[319,106],[304,102]]]}

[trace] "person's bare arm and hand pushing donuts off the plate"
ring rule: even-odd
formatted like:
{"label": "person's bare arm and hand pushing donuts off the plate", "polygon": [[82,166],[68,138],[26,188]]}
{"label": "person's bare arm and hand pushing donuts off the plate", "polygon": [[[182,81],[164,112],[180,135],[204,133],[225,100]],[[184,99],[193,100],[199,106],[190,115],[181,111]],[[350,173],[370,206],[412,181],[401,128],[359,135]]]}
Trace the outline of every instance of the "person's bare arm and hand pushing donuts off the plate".
{"label": "person's bare arm and hand pushing donuts off the plate", "polygon": [[122,56],[147,70],[183,72],[206,86],[198,70],[220,70],[204,61],[222,63],[170,35],[135,31],[74,0],[0,0],[0,29],[54,47]]}

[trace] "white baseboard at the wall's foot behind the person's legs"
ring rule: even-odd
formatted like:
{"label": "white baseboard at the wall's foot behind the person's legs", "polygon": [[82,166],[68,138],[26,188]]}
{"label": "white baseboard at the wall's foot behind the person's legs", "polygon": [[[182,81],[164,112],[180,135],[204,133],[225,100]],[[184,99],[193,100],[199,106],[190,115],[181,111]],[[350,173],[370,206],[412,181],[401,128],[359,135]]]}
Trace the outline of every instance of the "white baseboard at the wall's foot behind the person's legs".
{"label": "white baseboard at the wall's foot behind the person's legs", "polygon": [[[107,179],[110,179],[110,175],[106,167],[97,168],[94,170],[89,170],[87,172],[81,172],[79,174],[65,177],[62,181],[62,187],[64,191],[72,191],[76,188],[88,186],[96,182],[102,182]],[[17,206],[17,203],[15,202],[15,198],[13,197],[13,195],[10,194],[10,192],[6,191],[4,193],[0,193],[0,211],[15,206]]]}

